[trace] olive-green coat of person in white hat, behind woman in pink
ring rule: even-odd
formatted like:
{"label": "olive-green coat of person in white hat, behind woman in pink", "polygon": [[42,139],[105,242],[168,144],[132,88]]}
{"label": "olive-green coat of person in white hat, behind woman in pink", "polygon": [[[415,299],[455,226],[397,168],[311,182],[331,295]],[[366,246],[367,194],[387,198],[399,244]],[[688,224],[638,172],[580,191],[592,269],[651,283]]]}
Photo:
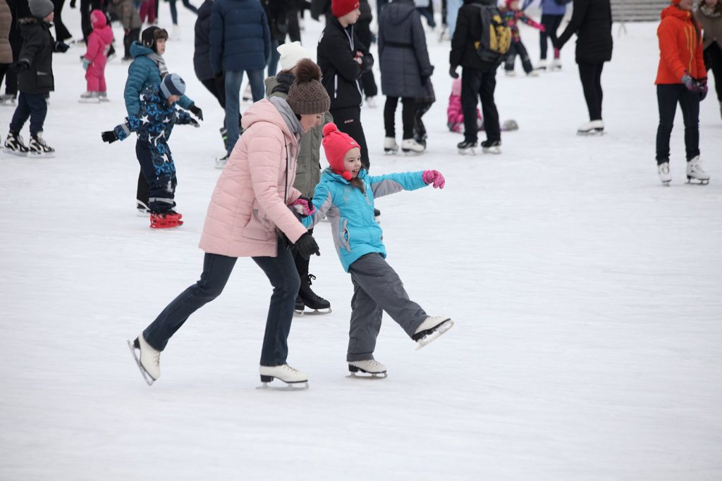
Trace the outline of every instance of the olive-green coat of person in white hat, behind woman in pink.
{"label": "olive-green coat of person in white hat, behind woman in pink", "polygon": [[[266,96],[288,97],[288,89],[293,83],[294,76],[281,72],[277,76],[266,79]],[[313,197],[313,187],[321,179],[321,139],[323,138],[323,125],[331,123],[334,118],[329,112],[323,115],[323,123],[303,134],[298,144],[298,159],[296,161],[296,178],[293,187],[307,197]]]}

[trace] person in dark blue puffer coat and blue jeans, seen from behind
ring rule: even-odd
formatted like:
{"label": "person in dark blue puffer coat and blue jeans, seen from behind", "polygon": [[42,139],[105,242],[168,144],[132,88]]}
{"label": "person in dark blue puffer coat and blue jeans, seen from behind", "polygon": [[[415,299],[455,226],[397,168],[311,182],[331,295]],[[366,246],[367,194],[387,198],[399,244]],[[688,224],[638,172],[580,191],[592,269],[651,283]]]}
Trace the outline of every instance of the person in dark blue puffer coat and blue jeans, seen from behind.
{"label": "person in dark blue puffer coat and blue jeans, seen from behind", "polygon": [[264,98],[264,69],[271,56],[271,31],[258,0],[216,0],[211,10],[211,68],[225,74],[226,152],[240,137],[240,84],[251,83],[253,102]]}

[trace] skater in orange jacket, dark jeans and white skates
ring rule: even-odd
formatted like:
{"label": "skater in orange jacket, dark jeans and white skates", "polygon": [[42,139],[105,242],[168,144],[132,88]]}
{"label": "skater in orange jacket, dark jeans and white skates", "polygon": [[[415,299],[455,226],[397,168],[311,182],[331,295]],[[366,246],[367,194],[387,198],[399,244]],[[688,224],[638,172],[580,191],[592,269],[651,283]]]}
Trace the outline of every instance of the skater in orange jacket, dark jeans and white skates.
{"label": "skater in orange jacket, dark jeans and white skates", "polygon": [[684,146],[687,150],[687,181],[706,184],[710,176],[700,161],[700,100],[707,94],[707,71],[703,61],[700,25],[692,16],[694,0],[671,0],[662,10],[657,28],[659,67],[657,102],[657,172],[659,180],[669,185],[669,137],[674,123],[677,102],[684,118]]}

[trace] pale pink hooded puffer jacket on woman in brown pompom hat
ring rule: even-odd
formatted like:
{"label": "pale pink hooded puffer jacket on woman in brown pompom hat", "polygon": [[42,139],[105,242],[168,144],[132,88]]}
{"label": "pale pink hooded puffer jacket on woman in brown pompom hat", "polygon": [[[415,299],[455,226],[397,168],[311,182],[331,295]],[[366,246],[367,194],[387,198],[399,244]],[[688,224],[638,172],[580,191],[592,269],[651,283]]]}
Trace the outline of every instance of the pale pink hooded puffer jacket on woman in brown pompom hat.
{"label": "pale pink hooded puffer jacket on woman in brown pompom hat", "polygon": [[287,207],[300,195],[293,187],[298,142],[267,99],[243,113],[243,128],[213,191],[200,247],[229,257],[276,257],[277,226],[294,243],[306,232]]}

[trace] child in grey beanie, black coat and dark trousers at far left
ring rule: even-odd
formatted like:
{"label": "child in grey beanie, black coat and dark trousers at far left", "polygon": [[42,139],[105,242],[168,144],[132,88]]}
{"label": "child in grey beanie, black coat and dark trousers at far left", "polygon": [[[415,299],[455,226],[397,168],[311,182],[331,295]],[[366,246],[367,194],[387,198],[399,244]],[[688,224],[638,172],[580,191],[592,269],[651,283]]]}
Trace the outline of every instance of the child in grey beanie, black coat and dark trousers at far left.
{"label": "child in grey beanie, black coat and dark trousers at far left", "polygon": [[[17,107],[10,121],[5,149],[10,154],[53,156],[55,149],[43,140],[43,124],[48,115],[46,98],[55,89],[53,79],[53,51],[65,52],[68,45],[56,42],[50,32],[55,6],[51,0],[30,0],[32,17],[19,19],[22,49],[11,69],[17,71],[20,92]],[[20,137],[30,118],[30,143],[25,146]]]}

